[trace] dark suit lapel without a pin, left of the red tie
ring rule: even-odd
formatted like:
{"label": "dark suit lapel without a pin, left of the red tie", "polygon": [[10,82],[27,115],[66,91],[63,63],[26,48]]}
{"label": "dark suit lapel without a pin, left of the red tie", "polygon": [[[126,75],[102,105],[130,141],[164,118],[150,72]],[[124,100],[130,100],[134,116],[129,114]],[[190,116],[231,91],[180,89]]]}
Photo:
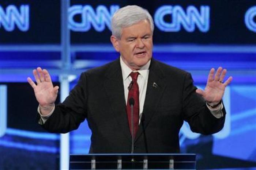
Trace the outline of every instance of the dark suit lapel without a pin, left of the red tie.
{"label": "dark suit lapel without a pin, left of the red tie", "polygon": [[104,82],[104,87],[106,94],[108,95],[114,117],[120,125],[121,130],[123,130],[125,136],[131,140],[124,98],[123,76],[119,58],[113,62],[113,65],[110,66],[105,76],[106,80]]}

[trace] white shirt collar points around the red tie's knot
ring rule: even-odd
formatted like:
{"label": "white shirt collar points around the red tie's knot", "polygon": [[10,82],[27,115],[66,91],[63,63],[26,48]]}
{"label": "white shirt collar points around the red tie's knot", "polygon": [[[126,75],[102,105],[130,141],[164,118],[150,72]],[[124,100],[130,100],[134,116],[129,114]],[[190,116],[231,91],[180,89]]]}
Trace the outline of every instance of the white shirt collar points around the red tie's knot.
{"label": "white shirt collar points around the red tie's knot", "polygon": [[[147,77],[147,74],[148,74],[148,69],[149,69],[149,66],[150,66],[150,62],[151,62],[151,59],[144,65],[142,66],[138,72],[140,73],[140,75],[142,75],[143,78],[146,78]],[[130,69],[123,61],[122,57],[120,56],[120,65],[121,65],[121,70],[122,70],[122,75],[123,75],[123,81],[125,81],[130,73],[132,72],[132,69]],[[137,71],[136,71],[137,72]]]}

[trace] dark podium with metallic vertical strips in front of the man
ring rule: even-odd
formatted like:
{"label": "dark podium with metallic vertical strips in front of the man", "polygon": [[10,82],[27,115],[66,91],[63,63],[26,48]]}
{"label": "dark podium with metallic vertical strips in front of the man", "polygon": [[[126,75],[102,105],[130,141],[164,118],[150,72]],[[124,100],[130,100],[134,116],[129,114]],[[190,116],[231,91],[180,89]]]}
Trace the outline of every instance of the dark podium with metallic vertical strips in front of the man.
{"label": "dark podium with metallic vertical strips in front of the man", "polygon": [[195,154],[88,154],[70,155],[70,170],[196,169]]}

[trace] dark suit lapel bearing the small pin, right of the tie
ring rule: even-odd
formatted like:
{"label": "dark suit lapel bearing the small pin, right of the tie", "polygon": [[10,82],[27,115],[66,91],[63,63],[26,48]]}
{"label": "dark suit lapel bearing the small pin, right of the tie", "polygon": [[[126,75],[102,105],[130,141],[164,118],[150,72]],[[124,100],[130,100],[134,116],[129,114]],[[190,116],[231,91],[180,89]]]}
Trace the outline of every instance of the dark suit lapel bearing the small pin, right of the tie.
{"label": "dark suit lapel bearing the small pin, right of the tie", "polygon": [[140,122],[139,130],[135,137],[135,142],[136,140],[138,140],[140,135],[142,135],[143,128],[144,130],[146,129],[148,123],[153,117],[155,109],[158,105],[161,96],[163,95],[165,88],[166,84],[161,68],[158,66],[158,63],[154,61],[154,59],[152,59],[149,68],[146,98],[143,107],[143,116],[141,120],[143,121],[143,123]]}

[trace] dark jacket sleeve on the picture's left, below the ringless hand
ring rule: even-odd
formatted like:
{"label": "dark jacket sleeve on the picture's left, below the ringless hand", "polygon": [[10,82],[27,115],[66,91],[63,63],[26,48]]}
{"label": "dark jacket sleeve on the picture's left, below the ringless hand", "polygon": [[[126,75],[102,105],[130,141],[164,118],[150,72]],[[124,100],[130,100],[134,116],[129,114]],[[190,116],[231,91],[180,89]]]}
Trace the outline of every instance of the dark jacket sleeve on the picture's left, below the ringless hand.
{"label": "dark jacket sleeve on the picture's left, below the ringless hand", "polygon": [[71,90],[63,103],[56,105],[54,112],[42,127],[54,133],[76,130],[87,117],[87,80],[82,73],[78,84]]}

